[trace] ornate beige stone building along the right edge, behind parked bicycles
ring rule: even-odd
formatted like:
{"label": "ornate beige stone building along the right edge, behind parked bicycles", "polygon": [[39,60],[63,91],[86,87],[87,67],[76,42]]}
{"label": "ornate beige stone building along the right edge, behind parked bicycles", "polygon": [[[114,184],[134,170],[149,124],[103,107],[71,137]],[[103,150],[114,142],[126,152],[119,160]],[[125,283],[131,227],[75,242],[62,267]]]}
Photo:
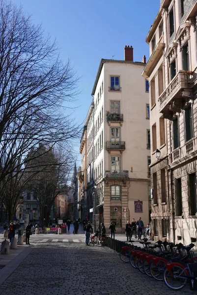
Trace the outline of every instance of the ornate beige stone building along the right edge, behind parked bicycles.
{"label": "ornate beige stone building along the right edge, behind parked bicycles", "polygon": [[197,240],[197,0],[161,0],[146,37],[152,232]]}

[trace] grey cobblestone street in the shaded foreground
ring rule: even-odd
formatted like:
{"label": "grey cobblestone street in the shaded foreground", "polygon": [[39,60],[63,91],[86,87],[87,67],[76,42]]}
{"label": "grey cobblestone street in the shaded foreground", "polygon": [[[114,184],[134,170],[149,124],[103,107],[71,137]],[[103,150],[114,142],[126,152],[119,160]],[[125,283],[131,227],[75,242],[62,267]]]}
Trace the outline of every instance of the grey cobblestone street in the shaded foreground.
{"label": "grey cobblestone street in the shaded foreground", "polygon": [[[3,269],[1,269],[3,271]],[[170,291],[123,263],[119,254],[84,243],[40,242],[0,286],[3,295],[193,295]]]}

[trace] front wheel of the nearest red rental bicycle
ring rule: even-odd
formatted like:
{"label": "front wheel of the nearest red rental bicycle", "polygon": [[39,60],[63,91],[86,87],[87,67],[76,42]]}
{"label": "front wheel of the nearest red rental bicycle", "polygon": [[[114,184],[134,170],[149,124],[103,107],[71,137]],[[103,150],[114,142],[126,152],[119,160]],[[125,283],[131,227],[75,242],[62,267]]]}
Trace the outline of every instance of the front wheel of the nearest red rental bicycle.
{"label": "front wheel of the nearest red rental bicycle", "polygon": [[186,276],[187,276],[187,273],[184,270],[184,267],[173,266],[170,269],[170,272],[168,268],[166,268],[164,271],[164,283],[171,290],[181,290],[187,284],[188,279],[186,278]]}

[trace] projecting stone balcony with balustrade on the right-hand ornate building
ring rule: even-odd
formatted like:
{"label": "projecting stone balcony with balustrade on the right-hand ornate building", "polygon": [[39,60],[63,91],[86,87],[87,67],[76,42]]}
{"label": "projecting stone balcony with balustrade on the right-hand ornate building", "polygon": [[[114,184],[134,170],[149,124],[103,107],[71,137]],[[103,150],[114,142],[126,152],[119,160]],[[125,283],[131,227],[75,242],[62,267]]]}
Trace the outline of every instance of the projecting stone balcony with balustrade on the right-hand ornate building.
{"label": "projecting stone balcony with balustrade on the right-hand ornate building", "polygon": [[170,81],[169,86],[159,96],[160,113],[169,112],[174,100],[179,101],[179,105],[184,102],[184,89],[189,89],[192,84],[192,72],[180,70],[176,76]]}

